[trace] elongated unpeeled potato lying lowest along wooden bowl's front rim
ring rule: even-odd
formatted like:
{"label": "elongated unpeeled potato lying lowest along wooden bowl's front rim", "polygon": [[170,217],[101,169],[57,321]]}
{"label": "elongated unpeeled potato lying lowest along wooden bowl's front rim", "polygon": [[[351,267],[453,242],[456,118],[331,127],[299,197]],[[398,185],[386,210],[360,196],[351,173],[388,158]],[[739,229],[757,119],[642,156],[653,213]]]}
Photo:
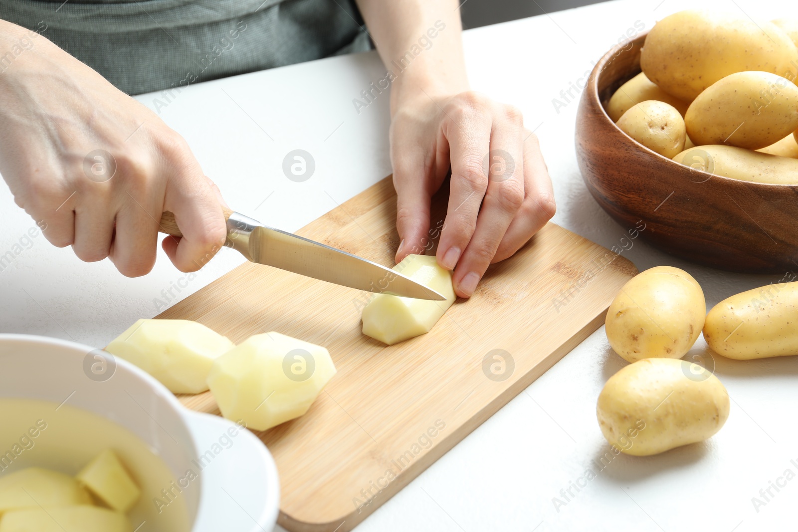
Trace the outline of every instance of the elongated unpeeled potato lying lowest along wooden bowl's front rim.
{"label": "elongated unpeeled potato lying lowest along wooden bowl's front rim", "polygon": [[722,175],[757,183],[798,184],[798,160],[736,146],[713,144],[690,148],[675,156],[674,160],[695,170],[707,172],[709,175],[705,179],[709,179],[711,175]]}

